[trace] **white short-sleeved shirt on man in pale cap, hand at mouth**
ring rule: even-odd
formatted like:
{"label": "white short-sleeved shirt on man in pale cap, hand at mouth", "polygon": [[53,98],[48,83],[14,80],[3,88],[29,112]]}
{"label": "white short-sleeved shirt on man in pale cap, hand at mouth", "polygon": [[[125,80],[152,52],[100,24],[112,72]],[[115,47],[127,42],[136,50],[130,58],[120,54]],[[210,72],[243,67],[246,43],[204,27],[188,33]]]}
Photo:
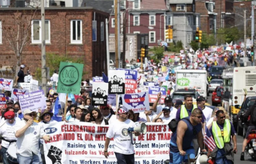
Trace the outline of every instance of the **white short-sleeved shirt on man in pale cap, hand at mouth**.
{"label": "white short-sleeved shirt on man in pale cap, hand at mouth", "polygon": [[[25,125],[25,120],[20,121],[17,126],[15,126],[14,132],[16,133]],[[37,123],[33,122],[33,124],[26,129],[24,134],[17,138],[16,153],[24,157],[32,157],[32,152],[37,155],[39,153],[39,139],[42,138],[44,135],[45,132],[43,128]]]}

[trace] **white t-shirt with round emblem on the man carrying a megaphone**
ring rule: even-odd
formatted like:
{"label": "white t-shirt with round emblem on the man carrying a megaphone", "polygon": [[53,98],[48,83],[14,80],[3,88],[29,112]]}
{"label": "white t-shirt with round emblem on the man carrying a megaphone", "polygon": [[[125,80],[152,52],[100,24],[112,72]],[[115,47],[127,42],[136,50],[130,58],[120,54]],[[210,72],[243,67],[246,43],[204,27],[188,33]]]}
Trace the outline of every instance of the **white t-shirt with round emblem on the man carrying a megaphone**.
{"label": "white t-shirt with round emblem on the man carrying a megaphone", "polygon": [[136,127],[135,123],[127,119],[124,122],[116,120],[109,126],[106,136],[114,137],[114,152],[121,154],[134,154],[134,147],[131,143],[131,137],[128,133],[128,128]]}

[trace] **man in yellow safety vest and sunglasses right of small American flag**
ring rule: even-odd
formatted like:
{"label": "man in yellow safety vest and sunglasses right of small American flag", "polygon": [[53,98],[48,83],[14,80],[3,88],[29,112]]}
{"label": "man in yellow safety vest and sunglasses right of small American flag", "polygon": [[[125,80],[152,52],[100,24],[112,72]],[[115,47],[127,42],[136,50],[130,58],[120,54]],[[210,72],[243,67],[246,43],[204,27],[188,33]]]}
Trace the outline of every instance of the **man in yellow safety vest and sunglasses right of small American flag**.
{"label": "man in yellow safety vest and sunglasses right of small American flag", "polygon": [[[233,124],[226,119],[225,113],[222,110],[216,112],[217,121],[212,122],[210,132],[212,133],[214,142],[216,144],[215,149],[211,152],[211,157],[215,158],[215,164],[233,164],[234,153],[237,151],[235,128]],[[234,148],[230,143],[232,140]]]}

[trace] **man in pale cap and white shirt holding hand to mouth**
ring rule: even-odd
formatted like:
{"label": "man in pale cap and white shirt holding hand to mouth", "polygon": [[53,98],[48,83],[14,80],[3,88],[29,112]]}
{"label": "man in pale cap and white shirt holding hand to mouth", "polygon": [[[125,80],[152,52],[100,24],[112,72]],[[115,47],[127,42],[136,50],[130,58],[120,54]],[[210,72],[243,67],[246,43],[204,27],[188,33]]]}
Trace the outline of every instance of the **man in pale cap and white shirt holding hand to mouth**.
{"label": "man in pale cap and white shirt holding hand to mouth", "polygon": [[43,128],[33,121],[33,111],[26,109],[23,112],[24,119],[15,126],[14,133],[17,137],[17,159],[21,163],[41,164],[39,152],[39,139],[50,141]]}

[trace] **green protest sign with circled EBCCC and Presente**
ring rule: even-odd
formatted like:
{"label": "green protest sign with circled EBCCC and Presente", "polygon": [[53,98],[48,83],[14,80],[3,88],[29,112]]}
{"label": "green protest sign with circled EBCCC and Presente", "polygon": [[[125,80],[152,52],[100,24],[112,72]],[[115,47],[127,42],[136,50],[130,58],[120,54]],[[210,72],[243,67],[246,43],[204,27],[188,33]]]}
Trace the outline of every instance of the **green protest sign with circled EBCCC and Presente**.
{"label": "green protest sign with circled EBCCC and Presente", "polygon": [[58,93],[80,93],[83,64],[60,62]]}

